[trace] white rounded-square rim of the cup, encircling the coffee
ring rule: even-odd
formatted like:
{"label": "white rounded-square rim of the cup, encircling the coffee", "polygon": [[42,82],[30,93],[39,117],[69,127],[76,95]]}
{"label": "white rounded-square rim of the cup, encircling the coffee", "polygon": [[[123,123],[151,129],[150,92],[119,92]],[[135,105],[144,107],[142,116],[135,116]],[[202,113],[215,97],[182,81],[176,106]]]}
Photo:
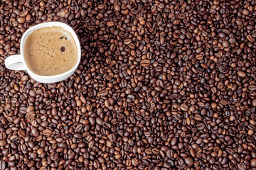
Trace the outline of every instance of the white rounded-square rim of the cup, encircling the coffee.
{"label": "white rounded-square rim of the cup, encircling the coffee", "polygon": [[[61,74],[56,74],[56,75],[53,75],[53,76],[43,76],[43,75],[39,75],[39,74],[36,74],[36,73],[32,72],[31,69],[28,68],[28,66],[26,64],[26,61],[25,61],[25,58],[24,58],[24,54],[23,54],[23,47],[24,47],[24,43],[25,43],[26,38],[28,38],[28,35],[31,35],[31,33],[33,33],[33,31],[38,30],[40,28],[53,27],[53,26],[61,27],[65,30],[67,30],[65,27],[70,28],[70,30],[67,30],[67,31],[69,33],[71,33],[71,35],[73,36],[73,38],[75,40],[75,45],[77,46],[77,49],[78,49],[78,60],[75,64],[75,66],[72,69],[68,70],[67,72],[64,72],[64,73],[61,73]],[[22,58],[23,58],[23,64],[26,67],[26,71],[28,72],[29,75],[31,75],[32,78],[36,77],[37,79],[49,79],[49,78],[54,79],[54,78],[58,78],[58,77],[64,77],[67,74],[71,74],[71,73],[75,72],[75,69],[78,68],[78,66],[80,64],[80,60],[81,60],[81,46],[80,46],[80,41],[78,39],[78,35],[75,33],[75,30],[73,30],[73,28],[68,26],[68,24],[66,24],[66,23],[55,22],[55,21],[54,22],[39,23],[36,26],[32,26],[31,28],[28,28],[28,30],[26,30],[26,32],[23,33],[23,35],[21,37],[20,50],[21,50],[21,55],[22,55]]]}

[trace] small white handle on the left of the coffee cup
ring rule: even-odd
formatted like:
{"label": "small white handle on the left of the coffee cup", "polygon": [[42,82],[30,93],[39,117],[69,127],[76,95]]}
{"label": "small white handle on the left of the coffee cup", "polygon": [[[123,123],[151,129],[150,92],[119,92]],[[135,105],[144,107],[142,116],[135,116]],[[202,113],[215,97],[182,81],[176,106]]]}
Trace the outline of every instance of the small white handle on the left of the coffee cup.
{"label": "small white handle on the left of the coffee cup", "polygon": [[22,55],[11,55],[4,60],[4,64],[6,65],[7,69],[12,70],[25,70],[26,67],[23,63]]}

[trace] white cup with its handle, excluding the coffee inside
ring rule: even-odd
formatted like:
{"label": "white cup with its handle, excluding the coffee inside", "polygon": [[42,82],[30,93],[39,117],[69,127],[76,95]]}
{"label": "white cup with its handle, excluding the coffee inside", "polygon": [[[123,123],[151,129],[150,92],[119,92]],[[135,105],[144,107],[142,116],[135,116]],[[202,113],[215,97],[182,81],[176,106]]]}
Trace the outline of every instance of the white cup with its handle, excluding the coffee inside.
{"label": "white cup with its handle, excluding the coffee inside", "polygon": [[[46,28],[46,27],[52,27],[52,26],[61,27],[65,30],[67,30],[69,33],[71,33],[71,35],[73,36],[73,38],[75,40],[75,45],[78,48],[78,61],[75,64],[75,66],[72,69],[70,69],[68,72],[58,74],[58,75],[53,75],[53,76],[41,76],[41,75],[38,75],[38,74],[35,74],[35,73],[31,72],[31,70],[28,69],[28,66],[27,66],[27,64],[24,60],[23,47],[24,47],[24,44],[26,42],[26,38],[28,38],[28,35],[33,33],[33,31],[38,30],[40,28]],[[6,60],[4,61],[4,64],[6,65],[6,67],[8,69],[26,70],[28,72],[28,74],[34,80],[36,80],[38,82],[41,82],[41,83],[55,83],[55,82],[67,79],[68,77],[70,77],[75,72],[76,69],[78,69],[78,65],[79,65],[80,60],[81,60],[81,47],[80,47],[80,42],[78,40],[78,36],[76,35],[73,28],[71,28],[70,26],[68,26],[65,23],[60,23],[60,22],[40,23],[36,26],[33,26],[33,27],[29,28],[22,35],[20,46],[21,46],[21,55],[11,55],[11,56],[7,57]]]}

